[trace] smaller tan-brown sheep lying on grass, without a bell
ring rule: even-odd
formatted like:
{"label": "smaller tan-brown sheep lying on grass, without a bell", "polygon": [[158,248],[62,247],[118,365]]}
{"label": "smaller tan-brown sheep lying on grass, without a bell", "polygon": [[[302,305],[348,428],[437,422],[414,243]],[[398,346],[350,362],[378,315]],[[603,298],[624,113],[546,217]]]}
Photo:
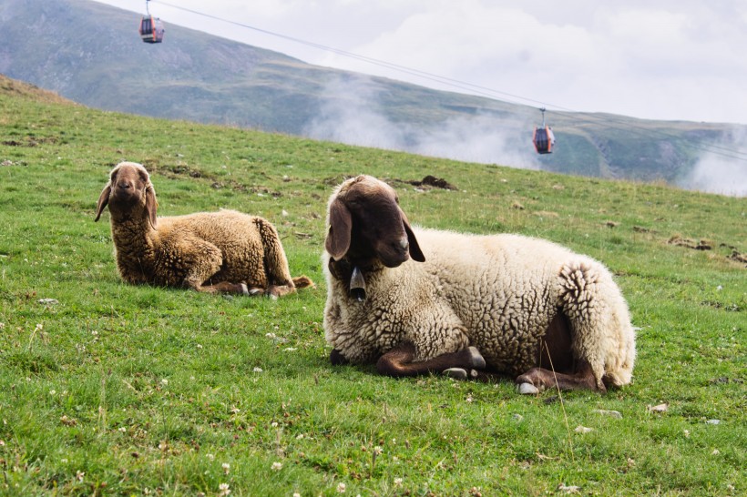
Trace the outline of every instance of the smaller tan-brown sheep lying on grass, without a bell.
{"label": "smaller tan-brown sheep lying on grass, without a bell", "polygon": [[145,167],[122,162],[98,198],[108,206],[117,266],[128,283],[277,299],[311,279],[293,279],[277,230],[235,210],[157,218],[156,192]]}

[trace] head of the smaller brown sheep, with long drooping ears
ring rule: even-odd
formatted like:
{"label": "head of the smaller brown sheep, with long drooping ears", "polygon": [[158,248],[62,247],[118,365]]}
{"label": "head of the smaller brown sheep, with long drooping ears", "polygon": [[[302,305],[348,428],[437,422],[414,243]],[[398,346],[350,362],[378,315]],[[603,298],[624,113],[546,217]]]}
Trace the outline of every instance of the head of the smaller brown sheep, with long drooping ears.
{"label": "head of the smaller brown sheep, with long drooping ears", "polygon": [[96,218],[105,207],[115,221],[146,217],[156,228],[158,201],[145,167],[135,162],[121,162],[109,175],[109,183],[98,197]]}

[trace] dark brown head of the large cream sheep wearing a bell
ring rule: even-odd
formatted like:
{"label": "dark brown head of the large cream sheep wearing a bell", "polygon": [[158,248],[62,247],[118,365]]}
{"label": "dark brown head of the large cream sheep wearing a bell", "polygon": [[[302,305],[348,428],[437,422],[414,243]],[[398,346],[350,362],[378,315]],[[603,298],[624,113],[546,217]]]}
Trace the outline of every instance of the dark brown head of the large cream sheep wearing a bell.
{"label": "dark brown head of the large cream sheep wearing a bell", "polygon": [[425,260],[394,188],[375,177],[343,183],[330,199],[329,223],[325,248],[334,260],[378,260],[387,268]]}

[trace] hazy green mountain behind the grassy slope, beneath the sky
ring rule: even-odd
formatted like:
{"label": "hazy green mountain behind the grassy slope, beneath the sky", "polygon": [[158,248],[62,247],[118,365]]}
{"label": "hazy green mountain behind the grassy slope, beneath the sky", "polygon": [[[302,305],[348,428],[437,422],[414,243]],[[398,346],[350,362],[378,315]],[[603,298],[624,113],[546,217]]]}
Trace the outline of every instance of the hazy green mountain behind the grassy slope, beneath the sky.
{"label": "hazy green mountain behind the grassy slope, beneath the sky", "polygon": [[148,45],[138,21],[88,0],[4,0],[0,73],[145,116],[727,193],[747,185],[732,152],[747,127],[556,112],[547,119],[558,147],[540,157],[536,108],[312,66],[168,19],[165,42]]}

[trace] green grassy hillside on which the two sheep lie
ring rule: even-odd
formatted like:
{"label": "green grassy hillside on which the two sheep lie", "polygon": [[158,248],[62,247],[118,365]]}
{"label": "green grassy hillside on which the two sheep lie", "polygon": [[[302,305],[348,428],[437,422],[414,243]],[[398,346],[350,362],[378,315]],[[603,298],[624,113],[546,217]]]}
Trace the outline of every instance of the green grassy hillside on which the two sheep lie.
{"label": "green grassy hillside on which the two sheep lie", "polygon": [[[0,493],[747,492],[744,199],[133,117],[0,83]],[[108,216],[93,222],[123,159],[151,171],[160,215],[269,218],[292,273],[319,288],[272,301],[124,284]],[[361,172],[388,179],[416,224],[550,238],[607,263],[640,327],[633,384],[519,397],[510,381],[330,366],[324,210]],[[408,183],[425,175],[457,189]]]}

